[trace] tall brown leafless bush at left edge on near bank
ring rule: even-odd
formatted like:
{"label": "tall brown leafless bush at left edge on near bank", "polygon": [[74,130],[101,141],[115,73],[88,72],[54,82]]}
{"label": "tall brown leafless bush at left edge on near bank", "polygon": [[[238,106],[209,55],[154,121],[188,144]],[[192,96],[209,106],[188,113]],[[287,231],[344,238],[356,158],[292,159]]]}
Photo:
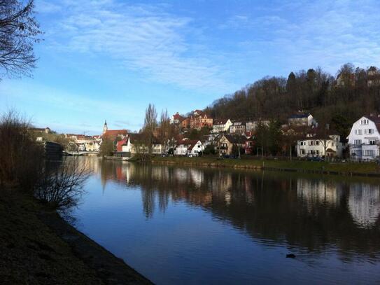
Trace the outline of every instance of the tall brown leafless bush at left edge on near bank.
{"label": "tall brown leafless bush at left edge on near bank", "polygon": [[33,190],[43,169],[43,146],[29,132],[29,122],[15,111],[0,118],[0,185]]}

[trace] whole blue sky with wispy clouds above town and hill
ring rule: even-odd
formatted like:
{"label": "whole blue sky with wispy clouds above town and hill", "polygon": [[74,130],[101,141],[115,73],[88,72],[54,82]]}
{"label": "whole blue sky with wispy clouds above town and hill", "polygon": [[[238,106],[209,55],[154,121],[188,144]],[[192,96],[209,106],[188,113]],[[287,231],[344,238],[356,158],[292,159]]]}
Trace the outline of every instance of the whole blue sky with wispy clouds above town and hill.
{"label": "whole blue sky with wispy clouds above town and hill", "polygon": [[58,132],[139,130],[148,103],[186,113],[263,76],[380,65],[380,3],[36,0],[33,78],[0,82],[0,111]]}

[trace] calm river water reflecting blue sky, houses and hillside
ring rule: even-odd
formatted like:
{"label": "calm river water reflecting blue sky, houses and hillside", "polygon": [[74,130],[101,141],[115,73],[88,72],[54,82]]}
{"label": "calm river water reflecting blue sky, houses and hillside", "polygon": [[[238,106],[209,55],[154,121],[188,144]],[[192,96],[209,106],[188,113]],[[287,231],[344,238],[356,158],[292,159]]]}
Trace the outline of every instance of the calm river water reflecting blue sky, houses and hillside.
{"label": "calm river water reflecting blue sky, houses and hillside", "polygon": [[76,227],[156,284],[380,282],[380,179],[83,161]]}

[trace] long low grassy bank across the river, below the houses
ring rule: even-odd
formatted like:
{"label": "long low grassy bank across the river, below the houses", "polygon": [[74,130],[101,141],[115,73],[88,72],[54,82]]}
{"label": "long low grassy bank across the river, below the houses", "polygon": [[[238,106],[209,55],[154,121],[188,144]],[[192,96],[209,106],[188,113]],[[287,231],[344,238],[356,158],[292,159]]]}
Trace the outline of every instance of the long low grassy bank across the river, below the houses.
{"label": "long low grassy bank across the river, below the houses", "polygon": [[258,160],[244,158],[220,159],[216,157],[155,157],[152,158],[152,163],[380,177],[379,165],[374,162],[316,162],[304,160]]}

